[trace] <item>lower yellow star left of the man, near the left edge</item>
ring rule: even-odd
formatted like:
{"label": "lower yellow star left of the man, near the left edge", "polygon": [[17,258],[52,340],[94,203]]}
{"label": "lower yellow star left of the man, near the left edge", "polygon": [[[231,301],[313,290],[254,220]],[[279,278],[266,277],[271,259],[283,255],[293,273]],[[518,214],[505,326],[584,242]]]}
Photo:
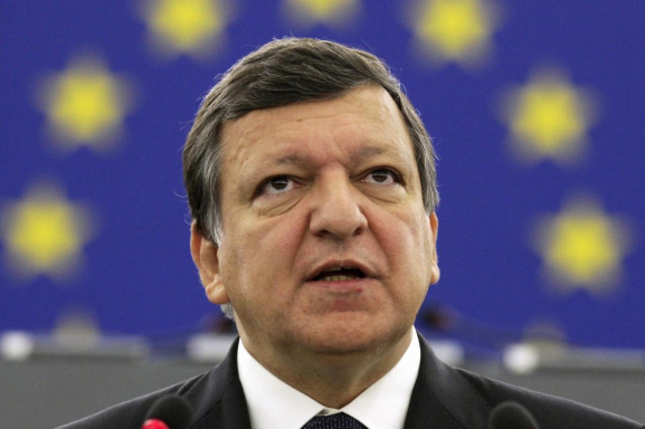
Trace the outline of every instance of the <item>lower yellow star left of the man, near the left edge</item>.
{"label": "lower yellow star left of the man, near the left edge", "polygon": [[90,215],[68,202],[59,189],[38,184],[2,212],[6,257],[17,274],[55,279],[74,274],[82,247],[90,238]]}

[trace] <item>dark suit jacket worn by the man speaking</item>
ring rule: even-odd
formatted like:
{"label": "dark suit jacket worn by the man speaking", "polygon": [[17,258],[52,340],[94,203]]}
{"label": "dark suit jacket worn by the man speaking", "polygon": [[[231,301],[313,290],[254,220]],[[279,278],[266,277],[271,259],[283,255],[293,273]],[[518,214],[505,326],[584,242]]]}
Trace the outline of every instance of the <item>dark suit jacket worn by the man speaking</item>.
{"label": "dark suit jacket worn by the man speaking", "polygon": [[[419,340],[421,367],[406,416],[406,429],[485,429],[491,408],[509,400],[526,406],[541,429],[645,429],[615,414],[450,367],[435,357],[425,339],[419,336]],[[140,429],[150,406],[164,394],[172,393],[192,405],[192,429],[250,428],[237,376],[237,341],[224,361],[206,374],[62,427]]]}

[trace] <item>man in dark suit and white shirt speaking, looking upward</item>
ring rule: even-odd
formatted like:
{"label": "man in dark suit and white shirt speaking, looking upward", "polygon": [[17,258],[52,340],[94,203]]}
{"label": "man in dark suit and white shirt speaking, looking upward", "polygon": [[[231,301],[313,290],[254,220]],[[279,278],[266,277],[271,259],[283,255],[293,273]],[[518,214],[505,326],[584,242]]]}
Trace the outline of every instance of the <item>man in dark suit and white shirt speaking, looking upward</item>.
{"label": "man in dark suit and white shirt speaking, looking upward", "polygon": [[370,53],[281,39],[241,59],[197,113],[184,179],[192,257],[240,340],[208,374],[67,427],[139,428],[169,393],[191,428],[485,428],[508,400],[542,428],[640,427],[449,367],[417,336],[439,280],[433,149]]}

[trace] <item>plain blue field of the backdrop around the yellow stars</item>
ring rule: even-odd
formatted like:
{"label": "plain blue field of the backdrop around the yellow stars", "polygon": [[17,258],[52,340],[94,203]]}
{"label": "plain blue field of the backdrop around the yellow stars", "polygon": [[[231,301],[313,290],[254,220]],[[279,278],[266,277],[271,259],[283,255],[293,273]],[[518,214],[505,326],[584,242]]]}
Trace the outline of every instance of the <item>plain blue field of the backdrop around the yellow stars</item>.
{"label": "plain blue field of the backdrop around the yellow stars", "polygon": [[[273,37],[323,37],[371,50],[392,67],[421,111],[439,154],[441,281],[424,310],[448,305],[463,318],[525,332],[548,323],[569,341],[645,348],[645,2],[624,0],[499,3],[504,14],[493,50],[479,68],[431,66],[412,54],[405,2],[364,1],[349,28],[303,29],[278,1],[245,1],[206,61],[158,59],[144,43],[146,24],[127,1],[3,1],[0,5],[0,199],[23,198],[51,178],[72,202],[96,215],[86,263],[70,281],[0,271],[0,330],[48,332],[82,310],[108,334],[160,336],[199,330],[219,309],[204,297],[188,252],[181,146],[199,99],[239,57]],[[61,153],[48,141],[34,88],[61,73],[77,52],[99,53],[110,72],[133,82],[135,108],[113,153]],[[542,64],[590,88],[599,116],[581,162],[517,162],[495,102],[526,84]],[[577,192],[609,215],[631,220],[624,275],[604,296],[554,292],[531,249],[536,216],[558,213]],[[6,253],[0,241],[0,251]],[[502,332],[502,331],[500,331]],[[515,334],[513,334],[515,335]],[[477,338],[470,338],[477,342]]]}

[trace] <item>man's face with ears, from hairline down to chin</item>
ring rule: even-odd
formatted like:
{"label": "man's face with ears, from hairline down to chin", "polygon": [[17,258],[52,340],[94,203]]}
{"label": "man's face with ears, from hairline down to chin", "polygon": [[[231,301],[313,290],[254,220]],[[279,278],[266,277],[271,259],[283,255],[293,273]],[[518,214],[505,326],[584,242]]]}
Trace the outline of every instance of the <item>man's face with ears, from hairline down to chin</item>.
{"label": "man's face with ears, from hairline down to chin", "polygon": [[224,125],[223,145],[223,237],[201,251],[194,240],[193,254],[246,347],[338,354],[400,341],[439,278],[437,218],[390,95],[366,86],[252,111]]}

